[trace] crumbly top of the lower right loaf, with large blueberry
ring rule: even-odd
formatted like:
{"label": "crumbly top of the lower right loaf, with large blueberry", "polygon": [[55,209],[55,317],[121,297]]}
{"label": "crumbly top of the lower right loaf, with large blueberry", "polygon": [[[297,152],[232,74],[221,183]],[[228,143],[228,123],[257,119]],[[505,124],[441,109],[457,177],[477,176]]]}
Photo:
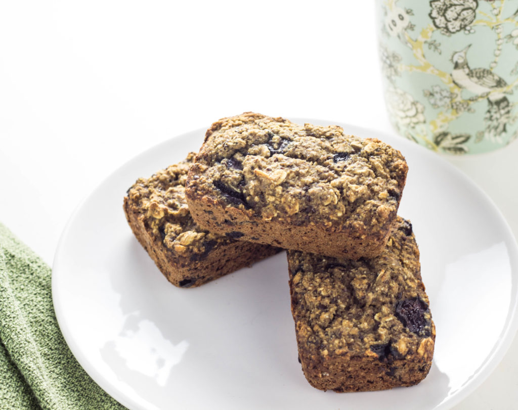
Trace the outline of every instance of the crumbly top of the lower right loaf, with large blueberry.
{"label": "crumbly top of the lower right loaf, with large blueberry", "polygon": [[288,251],[299,338],[311,352],[428,361],[435,327],[412,225],[397,217],[383,253],[358,261]]}

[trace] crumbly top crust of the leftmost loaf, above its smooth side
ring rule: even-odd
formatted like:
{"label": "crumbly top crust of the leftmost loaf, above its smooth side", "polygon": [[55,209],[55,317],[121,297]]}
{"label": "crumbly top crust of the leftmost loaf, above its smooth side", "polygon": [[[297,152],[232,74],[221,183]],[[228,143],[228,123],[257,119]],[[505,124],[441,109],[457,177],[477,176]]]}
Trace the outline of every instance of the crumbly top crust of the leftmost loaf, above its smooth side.
{"label": "crumbly top crust of the leftmost loaf, above its smooth side", "polygon": [[131,210],[145,218],[154,235],[160,235],[164,246],[177,256],[203,259],[218,243],[232,239],[199,228],[185,201],[187,171],[196,154],[189,153],[179,164],[140,178],[128,189]]}

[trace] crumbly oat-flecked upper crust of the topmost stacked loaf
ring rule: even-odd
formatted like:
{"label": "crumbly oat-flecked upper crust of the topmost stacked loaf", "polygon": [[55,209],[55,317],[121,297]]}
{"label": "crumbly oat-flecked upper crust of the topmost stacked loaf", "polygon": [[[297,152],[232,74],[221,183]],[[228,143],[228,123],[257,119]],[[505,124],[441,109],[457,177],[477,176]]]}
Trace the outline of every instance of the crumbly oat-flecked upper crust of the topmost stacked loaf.
{"label": "crumbly oat-flecked upper crust of the topmost stacked loaf", "polygon": [[255,113],[214,123],[196,162],[194,195],[224,197],[265,220],[303,224],[311,215],[360,229],[395,217],[407,173],[402,155],[379,140]]}

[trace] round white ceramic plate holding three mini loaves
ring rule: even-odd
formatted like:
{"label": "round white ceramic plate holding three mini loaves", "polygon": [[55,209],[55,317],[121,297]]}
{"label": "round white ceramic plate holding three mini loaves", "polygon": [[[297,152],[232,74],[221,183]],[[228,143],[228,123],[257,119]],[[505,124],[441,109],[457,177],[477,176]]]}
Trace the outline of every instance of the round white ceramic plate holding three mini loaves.
{"label": "round white ceramic plate holding three mini loaves", "polygon": [[392,144],[408,160],[399,214],[412,221],[437,327],[427,378],[379,392],[312,388],[297,361],[284,254],[199,288],[165,280],[133,237],[122,198],[138,177],[197,151],[201,129],[157,145],[110,175],[79,206],[57,248],[57,320],[102,388],[132,409],[442,409],[495,368],[517,328],[518,252],[506,222],[436,154],[342,125]]}

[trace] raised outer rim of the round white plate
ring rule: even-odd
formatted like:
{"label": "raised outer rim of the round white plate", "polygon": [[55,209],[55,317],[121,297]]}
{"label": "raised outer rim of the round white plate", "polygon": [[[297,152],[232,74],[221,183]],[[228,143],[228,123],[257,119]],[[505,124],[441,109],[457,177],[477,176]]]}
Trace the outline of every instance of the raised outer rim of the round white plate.
{"label": "raised outer rim of the round white plate", "polygon": [[[365,134],[367,138],[379,138],[383,139],[385,136],[389,136],[389,139],[394,139],[397,141],[397,147],[396,149],[399,149],[401,146],[406,147],[412,147],[411,149],[420,151],[420,155],[428,156],[428,158],[433,158],[434,161],[439,161],[441,163],[441,166],[447,169],[448,172],[453,172],[457,175],[457,177],[461,178],[464,183],[468,184],[470,189],[477,192],[478,195],[483,197],[488,205],[492,208],[494,212],[494,216],[499,219],[500,225],[503,228],[503,233],[505,233],[505,240],[506,244],[512,243],[514,246],[511,248],[508,248],[508,254],[511,260],[511,271],[512,272],[518,272],[518,244],[516,242],[516,238],[514,237],[514,233],[509,226],[505,216],[503,216],[502,212],[494,202],[494,200],[488,196],[483,189],[474,182],[466,173],[464,173],[461,169],[457,168],[450,162],[448,162],[447,159],[445,159],[443,156],[441,156],[438,153],[432,152],[429,149],[422,147],[421,145],[412,142],[404,137],[401,137],[394,133],[389,133],[382,130],[357,126],[353,124],[347,124],[341,121],[329,121],[324,119],[314,119],[314,118],[298,118],[298,117],[290,117],[290,121],[293,121],[295,123],[303,124],[305,122],[312,123],[312,124],[334,124],[339,125],[343,127],[344,129],[347,129],[348,131],[351,130],[352,133],[350,134],[358,134],[362,135]],[[78,345],[75,342],[74,335],[71,334],[70,329],[66,326],[66,319],[65,315],[63,314],[63,310],[61,309],[61,303],[62,300],[59,297],[59,278],[61,270],[61,257],[62,257],[62,249],[64,247],[64,243],[66,241],[66,238],[68,236],[68,232],[71,229],[71,226],[73,225],[73,222],[75,221],[77,215],[80,213],[80,211],[85,206],[85,203],[88,202],[88,200],[94,196],[95,193],[97,193],[100,188],[104,184],[109,183],[110,180],[112,180],[114,177],[116,177],[117,174],[119,174],[121,171],[123,171],[125,168],[131,167],[133,163],[136,163],[140,158],[145,158],[150,155],[152,151],[159,150],[161,147],[165,147],[172,142],[174,142],[175,139],[179,139],[182,137],[185,137],[190,134],[194,133],[200,133],[202,135],[205,135],[205,130],[207,127],[202,128],[196,128],[192,129],[190,131],[186,131],[182,134],[175,135],[173,137],[167,138],[166,140],[163,140],[159,143],[156,143],[147,149],[143,150],[142,152],[134,155],[133,157],[126,160],[123,164],[119,165],[116,169],[112,170],[106,177],[100,181],[87,195],[85,195],[82,200],[78,203],[74,211],[70,214],[65,227],[61,233],[60,239],[57,243],[56,250],[54,253],[54,258],[52,261],[52,277],[51,277],[51,290],[52,290],[52,303],[53,308],[55,312],[55,316],[57,319],[57,324],[59,325],[59,328],[63,334],[64,340],[67,343],[68,347],[70,348],[71,353],[74,355],[76,360],[79,362],[81,367],[89,374],[89,376],[94,380],[95,383],[99,385],[100,388],[105,390],[112,398],[117,400],[122,405],[126,406],[127,408],[142,408],[138,403],[134,402],[132,398],[127,397],[119,388],[117,388],[114,384],[110,383],[109,380],[103,376],[101,372],[99,372],[93,363],[91,363],[88,360],[87,356],[83,355],[82,350],[78,347]],[[513,263],[514,262],[514,263]],[[514,269],[513,269],[514,268]],[[55,272],[58,272],[57,275]],[[516,273],[513,275],[516,276]],[[491,352],[487,355],[485,358],[485,361],[483,364],[477,369],[476,373],[474,373],[473,377],[468,379],[465,384],[461,386],[461,388],[457,389],[451,396],[447,397],[445,401],[443,400],[441,403],[439,403],[436,407],[434,407],[434,410],[439,409],[445,409],[445,408],[451,408],[454,405],[460,403],[462,400],[464,400],[466,397],[468,397],[474,390],[476,390],[483,382],[487,379],[488,376],[490,376],[497,365],[500,363],[502,358],[507,353],[509,347],[511,346],[514,335],[516,334],[518,330],[518,314],[517,314],[517,307],[518,307],[518,289],[513,293],[511,293],[511,300],[509,305],[509,311],[508,315],[506,317],[505,323],[501,329],[500,332],[500,338],[493,346],[493,349]]]}

